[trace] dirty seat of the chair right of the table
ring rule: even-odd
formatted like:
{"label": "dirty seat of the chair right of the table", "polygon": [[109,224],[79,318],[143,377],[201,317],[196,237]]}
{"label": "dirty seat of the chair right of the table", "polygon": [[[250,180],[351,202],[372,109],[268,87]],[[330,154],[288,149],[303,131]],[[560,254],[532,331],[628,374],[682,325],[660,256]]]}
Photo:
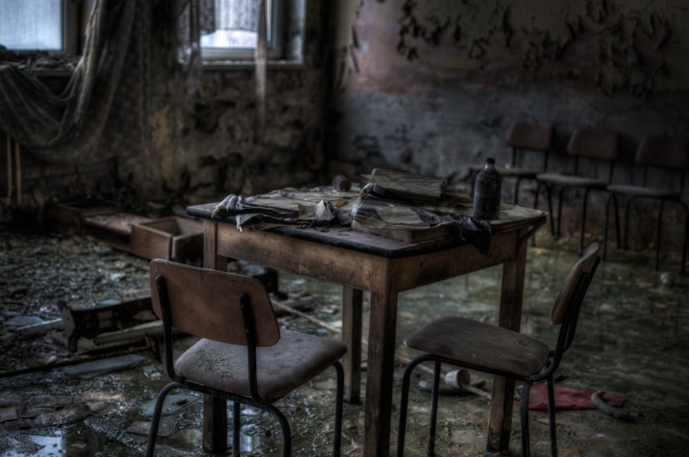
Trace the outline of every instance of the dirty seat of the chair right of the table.
{"label": "dirty seat of the chair right of the table", "polygon": [[537,374],[549,351],[542,341],[519,332],[457,316],[426,323],[405,343],[422,352],[518,376]]}

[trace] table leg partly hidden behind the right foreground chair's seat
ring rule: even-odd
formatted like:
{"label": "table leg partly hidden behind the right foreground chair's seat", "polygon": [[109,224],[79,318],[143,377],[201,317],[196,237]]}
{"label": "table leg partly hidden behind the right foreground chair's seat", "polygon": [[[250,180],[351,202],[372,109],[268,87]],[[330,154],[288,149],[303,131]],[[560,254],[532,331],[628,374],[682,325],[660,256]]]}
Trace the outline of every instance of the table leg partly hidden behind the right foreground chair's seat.
{"label": "table leg partly hidden behind the right foreground chair's seat", "polygon": [[[520,237],[521,235],[520,233]],[[502,292],[498,323],[501,327],[517,332],[520,330],[522,319],[526,247],[526,242],[519,244],[515,259],[502,266]],[[489,452],[509,448],[514,385],[513,379],[505,379],[500,376],[495,376],[493,379],[493,397],[488,426],[488,444],[486,446]]]}

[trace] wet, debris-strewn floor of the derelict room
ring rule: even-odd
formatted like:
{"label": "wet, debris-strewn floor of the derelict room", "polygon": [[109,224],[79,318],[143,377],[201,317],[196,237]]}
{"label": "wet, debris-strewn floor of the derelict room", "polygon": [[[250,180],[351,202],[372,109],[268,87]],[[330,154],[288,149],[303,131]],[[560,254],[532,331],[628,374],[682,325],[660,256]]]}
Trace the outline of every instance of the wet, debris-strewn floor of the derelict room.
{"label": "wet, debris-strewn floor of the derelict room", "polygon": [[[535,246],[529,247],[523,332],[553,341],[550,307],[577,259],[576,243],[568,237],[553,240],[542,229]],[[604,390],[622,397],[624,407],[639,414],[639,421],[624,421],[596,409],[559,410],[560,456],[687,455],[689,282],[677,273],[678,258],[663,259],[661,270],[655,271],[652,255],[652,251],[629,253],[610,246],[556,383],[557,387],[589,393]],[[495,322],[500,275],[500,268],[491,268],[402,293],[400,359],[413,356],[404,347],[404,336],[432,317],[457,313]],[[327,326],[297,315],[282,315],[280,324],[338,338],[333,328],[340,326],[340,288],[294,275],[279,278],[280,291],[307,304],[307,315]],[[26,334],[18,329],[59,318],[60,301],[88,304],[145,295],[144,259],[85,237],[0,234],[0,457],[143,454],[146,437],[141,432],[150,421],[150,402],[167,383],[163,365],[152,357],[152,350],[126,346],[73,354],[65,348],[64,330]],[[189,337],[180,337],[177,349],[191,342]],[[392,386],[393,440],[402,370],[400,362]],[[490,392],[490,376],[472,374],[472,379],[484,379],[483,388]],[[429,394],[419,385],[428,380],[426,371],[416,371],[407,456],[425,455]],[[295,456],[329,455],[333,389],[328,371],[278,403],[292,424]],[[198,397],[174,393],[178,396],[163,423],[169,436],[159,438],[158,455],[203,456]],[[439,456],[491,455],[485,451],[488,405],[486,398],[473,394],[442,396]],[[546,456],[546,413],[531,410],[530,415],[534,454]],[[243,455],[280,455],[276,422],[250,409],[244,410],[243,418]],[[361,455],[362,421],[362,406],[346,404],[342,455]],[[510,450],[511,454],[503,455],[520,455],[517,403]]]}

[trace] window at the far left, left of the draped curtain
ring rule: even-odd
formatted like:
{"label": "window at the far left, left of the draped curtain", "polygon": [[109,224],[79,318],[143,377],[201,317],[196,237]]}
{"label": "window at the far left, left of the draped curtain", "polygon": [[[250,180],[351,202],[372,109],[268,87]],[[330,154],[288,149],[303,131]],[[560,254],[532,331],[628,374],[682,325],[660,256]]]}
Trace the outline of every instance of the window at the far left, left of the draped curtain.
{"label": "window at the far left, left of the draped curtain", "polygon": [[83,34],[80,8],[88,12],[93,2],[80,7],[65,0],[0,0],[0,45],[13,51],[76,54]]}

